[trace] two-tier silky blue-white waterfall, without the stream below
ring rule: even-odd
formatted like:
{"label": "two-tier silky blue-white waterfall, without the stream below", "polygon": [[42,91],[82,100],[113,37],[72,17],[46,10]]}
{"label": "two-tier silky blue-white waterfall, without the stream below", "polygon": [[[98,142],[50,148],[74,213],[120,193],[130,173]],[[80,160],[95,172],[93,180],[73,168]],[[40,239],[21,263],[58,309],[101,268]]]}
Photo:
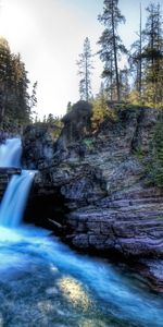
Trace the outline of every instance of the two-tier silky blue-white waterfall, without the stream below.
{"label": "two-tier silky blue-white waterfall, without the stream below", "polygon": [[[21,154],[21,140],[8,140],[0,146],[0,167],[20,167]],[[11,178],[0,205],[1,226],[12,228],[21,222],[34,175],[35,171],[23,170]]]}

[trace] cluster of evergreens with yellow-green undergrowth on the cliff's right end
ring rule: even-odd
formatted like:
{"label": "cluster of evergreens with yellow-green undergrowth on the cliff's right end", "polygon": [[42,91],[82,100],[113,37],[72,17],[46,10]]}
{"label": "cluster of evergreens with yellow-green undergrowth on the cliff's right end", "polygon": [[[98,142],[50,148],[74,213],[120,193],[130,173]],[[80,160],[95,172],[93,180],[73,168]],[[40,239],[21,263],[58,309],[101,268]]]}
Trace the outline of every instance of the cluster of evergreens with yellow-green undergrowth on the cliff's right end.
{"label": "cluster of evergreens with yellow-green undergrowth on the cliff's right end", "polygon": [[[160,4],[151,2],[147,8],[146,28],[131,45],[129,64],[134,77],[137,102],[160,109],[163,106],[163,28]],[[135,99],[134,99],[135,100]]]}

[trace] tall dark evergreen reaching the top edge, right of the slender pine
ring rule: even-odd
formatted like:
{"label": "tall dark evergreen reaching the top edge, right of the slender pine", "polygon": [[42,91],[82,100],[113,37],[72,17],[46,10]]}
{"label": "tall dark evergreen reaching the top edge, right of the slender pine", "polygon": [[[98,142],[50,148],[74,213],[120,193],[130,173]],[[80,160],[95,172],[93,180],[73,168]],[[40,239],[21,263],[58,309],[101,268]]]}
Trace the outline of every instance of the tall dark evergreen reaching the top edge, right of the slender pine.
{"label": "tall dark evergreen reaching the top edge, right of the slender pine", "polygon": [[118,0],[104,0],[103,14],[99,15],[99,21],[104,25],[104,31],[99,39],[101,50],[100,59],[104,62],[102,77],[106,80],[106,87],[110,89],[110,98],[112,100],[114,85],[116,88],[116,99],[121,99],[118,59],[122,53],[127,50],[122,44],[117,32],[120,23],[125,22],[124,16],[117,7]]}

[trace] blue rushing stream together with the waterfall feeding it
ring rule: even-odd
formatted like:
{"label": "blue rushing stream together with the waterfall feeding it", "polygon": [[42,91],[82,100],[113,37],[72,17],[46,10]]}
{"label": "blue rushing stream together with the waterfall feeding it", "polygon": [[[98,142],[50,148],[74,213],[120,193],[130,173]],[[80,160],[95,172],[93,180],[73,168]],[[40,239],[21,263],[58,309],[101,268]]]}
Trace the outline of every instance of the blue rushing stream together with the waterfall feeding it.
{"label": "blue rushing stream together with the waterfall feeding it", "polygon": [[[0,166],[20,166],[20,140]],[[163,298],[106,261],[21,223],[34,177],[13,177],[0,205],[0,327],[163,327]]]}

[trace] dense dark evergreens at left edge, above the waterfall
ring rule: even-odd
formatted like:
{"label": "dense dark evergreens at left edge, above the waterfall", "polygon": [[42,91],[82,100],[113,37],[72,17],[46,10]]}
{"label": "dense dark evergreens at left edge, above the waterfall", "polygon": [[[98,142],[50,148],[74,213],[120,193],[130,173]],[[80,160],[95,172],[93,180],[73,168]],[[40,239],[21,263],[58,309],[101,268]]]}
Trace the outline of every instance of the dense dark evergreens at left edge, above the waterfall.
{"label": "dense dark evergreens at left edge, above the waterfall", "polygon": [[36,84],[32,98],[29,81],[20,55],[11,52],[8,41],[0,38],[0,126],[17,132],[30,122],[32,107],[36,104]]}

